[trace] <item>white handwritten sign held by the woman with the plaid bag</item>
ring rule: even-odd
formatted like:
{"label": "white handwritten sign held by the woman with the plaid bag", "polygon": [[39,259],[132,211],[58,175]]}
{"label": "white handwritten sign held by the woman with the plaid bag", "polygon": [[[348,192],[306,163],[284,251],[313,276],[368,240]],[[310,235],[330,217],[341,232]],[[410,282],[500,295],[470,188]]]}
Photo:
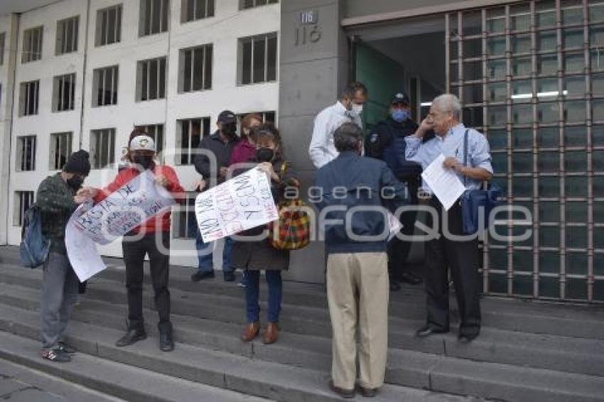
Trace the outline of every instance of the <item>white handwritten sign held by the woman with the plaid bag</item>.
{"label": "white handwritten sign held by the woman with the plaid bag", "polygon": [[198,195],[195,216],[204,243],[278,218],[269,180],[257,169]]}

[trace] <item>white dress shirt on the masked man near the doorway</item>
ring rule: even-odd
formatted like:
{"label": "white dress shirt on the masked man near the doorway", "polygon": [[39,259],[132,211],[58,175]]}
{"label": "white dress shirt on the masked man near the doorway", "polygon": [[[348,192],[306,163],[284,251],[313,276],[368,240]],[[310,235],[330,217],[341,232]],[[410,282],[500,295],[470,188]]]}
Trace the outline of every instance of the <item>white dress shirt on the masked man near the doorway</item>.
{"label": "white dress shirt on the masked man near the doorway", "polygon": [[347,110],[340,101],[326,107],[315,117],[308,155],[316,168],[338,157],[338,151],[333,143],[333,133],[344,123],[355,123],[362,128],[360,116]]}

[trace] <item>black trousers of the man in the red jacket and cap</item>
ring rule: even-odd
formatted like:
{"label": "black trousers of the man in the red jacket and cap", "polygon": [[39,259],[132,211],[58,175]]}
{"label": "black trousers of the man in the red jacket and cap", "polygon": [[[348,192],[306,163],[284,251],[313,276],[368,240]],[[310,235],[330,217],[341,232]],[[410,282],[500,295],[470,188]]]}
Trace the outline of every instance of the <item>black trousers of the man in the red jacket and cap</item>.
{"label": "black trousers of the man in the red jacket and cap", "polygon": [[124,237],[122,251],[126,264],[126,290],[128,292],[128,321],[130,330],[144,330],[143,320],[143,264],[149,254],[151,282],[155,292],[155,307],[159,314],[159,329],[170,330],[170,291],[168,290],[170,254],[158,247],[161,241],[165,249],[170,249],[170,232],[145,234],[141,239],[131,241]]}

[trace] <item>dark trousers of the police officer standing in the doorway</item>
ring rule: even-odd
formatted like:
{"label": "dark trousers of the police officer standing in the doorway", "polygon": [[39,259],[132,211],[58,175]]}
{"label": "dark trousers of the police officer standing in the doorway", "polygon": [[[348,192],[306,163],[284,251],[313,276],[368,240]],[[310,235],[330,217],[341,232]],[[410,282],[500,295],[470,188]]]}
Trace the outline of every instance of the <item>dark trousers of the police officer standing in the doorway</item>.
{"label": "dark trousers of the police officer standing in the doorway", "polygon": [[[419,190],[419,178],[399,178],[401,183],[406,183],[409,191],[409,200],[411,205],[418,204],[417,192]],[[416,211],[406,211],[401,214],[400,222],[403,225],[401,233],[411,236],[414,232],[415,221],[417,219]],[[406,261],[411,251],[411,241],[403,241],[394,237],[388,243],[388,273],[396,279],[401,273],[406,271]]]}

